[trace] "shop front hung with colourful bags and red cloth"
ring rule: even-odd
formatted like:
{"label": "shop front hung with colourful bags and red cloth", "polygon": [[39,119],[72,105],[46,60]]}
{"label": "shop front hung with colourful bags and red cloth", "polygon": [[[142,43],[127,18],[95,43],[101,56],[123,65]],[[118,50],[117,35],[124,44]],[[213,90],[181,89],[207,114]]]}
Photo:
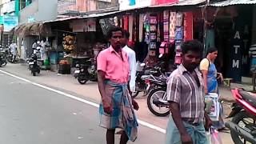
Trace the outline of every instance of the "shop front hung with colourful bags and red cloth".
{"label": "shop front hung with colourful bags and red cloth", "polygon": [[[180,3],[174,0],[148,0],[150,6],[140,6],[140,2],[138,5],[136,2],[132,6],[120,3],[121,8],[126,8],[122,10],[128,12],[118,17],[118,26],[130,32],[130,43],[134,44],[139,62],[154,66],[158,62],[158,55],[164,54],[166,68],[172,70],[182,62],[182,42],[194,38],[192,9],[202,1]],[[130,10],[130,7],[134,10]]]}

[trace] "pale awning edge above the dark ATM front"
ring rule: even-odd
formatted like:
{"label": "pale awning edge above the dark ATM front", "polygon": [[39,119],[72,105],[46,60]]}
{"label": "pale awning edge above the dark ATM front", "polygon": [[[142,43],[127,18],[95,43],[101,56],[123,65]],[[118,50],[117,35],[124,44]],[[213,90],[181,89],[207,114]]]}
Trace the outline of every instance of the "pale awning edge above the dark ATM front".
{"label": "pale awning edge above the dark ATM front", "polygon": [[222,2],[211,3],[210,6],[232,6],[232,5],[253,5],[256,4],[256,0],[226,0]]}

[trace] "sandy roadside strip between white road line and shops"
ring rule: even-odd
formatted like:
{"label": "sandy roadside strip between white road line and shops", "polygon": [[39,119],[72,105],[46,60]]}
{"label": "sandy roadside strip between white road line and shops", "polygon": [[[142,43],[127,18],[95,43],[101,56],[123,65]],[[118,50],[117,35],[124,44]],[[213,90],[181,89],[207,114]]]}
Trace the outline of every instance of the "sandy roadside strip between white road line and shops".
{"label": "sandy roadside strip between white road line and shops", "polygon": [[[86,83],[86,85],[80,85],[78,83],[78,81],[76,79],[74,79],[74,77],[71,74],[56,74],[51,71],[42,71],[41,74],[39,74],[36,77],[33,77],[30,74],[29,70],[27,70],[26,66],[21,66],[19,64],[14,65],[14,64],[10,64],[10,63],[8,63],[8,65],[6,67],[0,68],[0,70],[7,71],[14,75],[18,75],[21,78],[29,79],[31,82],[38,82],[44,86],[49,86],[54,89],[64,91],[68,94],[73,94],[75,96],[78,96],[79,98],[87,99],[90,102],[98,103],[100,101],[100,95],[98,93],[98,86],[95,82],[89,82],[89,83]],[[2,82],[1,77],[0,77],[0,79]],[[228,94],[228,95],[231,96],[230,94]],[[137,113],[138,118],[144,122],[149,122],[150,124],[153,124],[154,126],[158,126],[158,128],[160,128],[161,130],[164,130],[167,125],[168,117],[160,118],[160,117],[154,116],[154,114],[151,114],[146,106],[146,97],[139,96],[136,99],[140,106],[140,110],[138,110],[138,113]],[[228,107],[226,106],[226,108],[228,108]],[[94,108],[92,108],[92,109],[94,109]],[[228,109],[230,109],[230,108],[228,108]],[[97,117],[97,114],[98,114],[98,112],[96,110],[93,115],[95,117]],[[229,111],[226,110],[226,114],[229,114]],[[97,118],[95,118],[95,120],[98,122]],[[97,122],[95,123],[95,125],[97,125]],[[139,129],[139,130],[141,130],[141,129]],[[146,129],[146,130],[148,130],[148,129]],[[151,130],[151,129],[149,129],[149,130]],[[159,134],[159,133],[157,132],[156,134]],[[140,138],[142,137],[142,135],[144,135],[144,133],[140,133]],[[229,143],[229,144],[233,143],[230,138],[229,132],[221,133],[221,136],[222,136],[223,143]],[[151,135],[147,134],[147,132],[145,132],[145,137],[152,138]],[[160,142],[160,143],[163,143],[164,134],[160,133],[160,137],[161,138],[159,138],[159,139],[162,140],[162,142]],[[156,137],[153,137],[153,138],[156,138]],[[0,143],[1,143],[1,141],[0,141]],[[137,143],[137,142],[135,142],[135,143]]]}

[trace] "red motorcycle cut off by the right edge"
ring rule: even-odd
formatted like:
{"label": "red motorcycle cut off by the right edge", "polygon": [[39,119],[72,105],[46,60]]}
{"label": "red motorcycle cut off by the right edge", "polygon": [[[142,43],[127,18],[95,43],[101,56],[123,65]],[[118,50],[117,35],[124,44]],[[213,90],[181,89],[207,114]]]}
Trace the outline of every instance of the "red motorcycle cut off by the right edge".
{"label": "red motorcycle cut off by the right edge", "polygon": [[231,90],[236,100],[227,118],[226,127],[236,144],[256,143],[256,94],[242,89]]}

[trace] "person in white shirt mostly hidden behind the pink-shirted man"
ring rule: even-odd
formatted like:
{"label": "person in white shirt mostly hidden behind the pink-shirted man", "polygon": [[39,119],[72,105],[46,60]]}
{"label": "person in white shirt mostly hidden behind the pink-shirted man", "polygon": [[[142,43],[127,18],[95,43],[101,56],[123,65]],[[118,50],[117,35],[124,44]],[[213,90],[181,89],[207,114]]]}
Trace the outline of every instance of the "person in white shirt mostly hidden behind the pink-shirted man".
{"label": "person in white shirt mostly hidden behind the pink-shirted man", "polygon": [[126,52],[128,55],[128,62],[130,65],[130,81],[129,81],[129,88],[130,92],[135,91],[135,79],[136,79],[136,54],[134,50],[127,46],[129,41],[130,33],[126,30],[123,31],[123,38],[122,38],[122,50]]}

